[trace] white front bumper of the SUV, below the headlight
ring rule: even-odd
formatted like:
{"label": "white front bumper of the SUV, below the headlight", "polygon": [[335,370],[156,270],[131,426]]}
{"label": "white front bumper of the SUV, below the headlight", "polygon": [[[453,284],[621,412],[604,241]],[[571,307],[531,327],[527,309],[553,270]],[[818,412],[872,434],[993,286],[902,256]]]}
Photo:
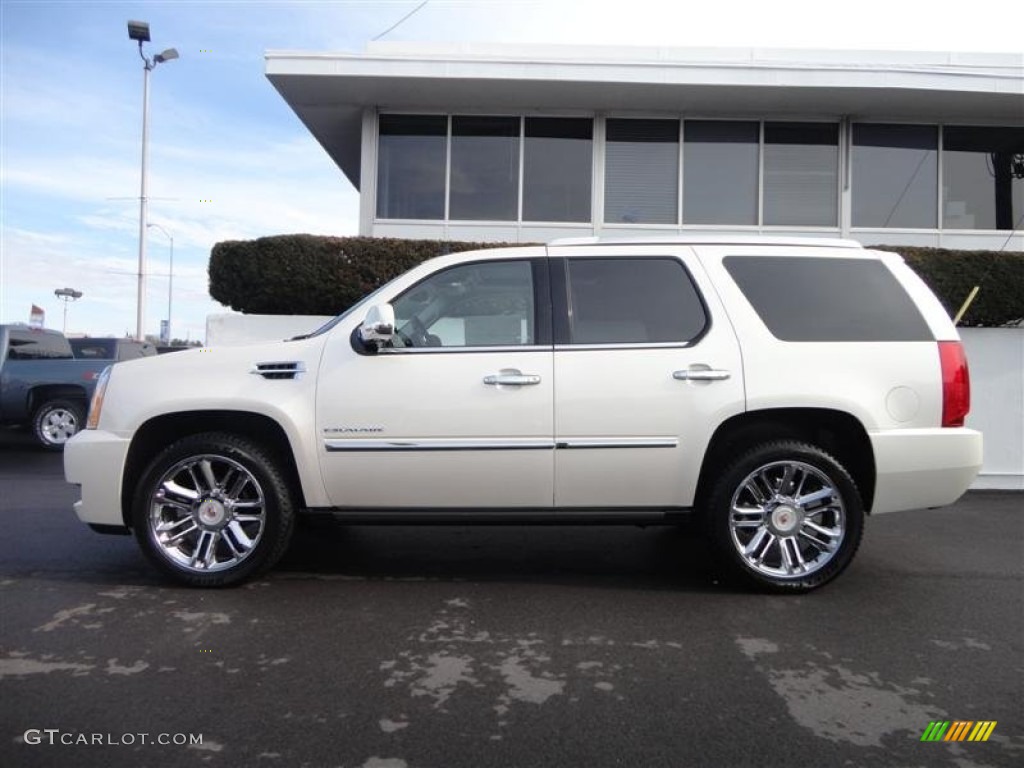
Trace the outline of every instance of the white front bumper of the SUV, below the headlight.
{"label": "white front bumper of the SUV, below the headlight", "polygon": [[86,429],[65,445],[65,479],[82,488],[75,514],[90,525],[123,526],[121,478],[130,440]]}

